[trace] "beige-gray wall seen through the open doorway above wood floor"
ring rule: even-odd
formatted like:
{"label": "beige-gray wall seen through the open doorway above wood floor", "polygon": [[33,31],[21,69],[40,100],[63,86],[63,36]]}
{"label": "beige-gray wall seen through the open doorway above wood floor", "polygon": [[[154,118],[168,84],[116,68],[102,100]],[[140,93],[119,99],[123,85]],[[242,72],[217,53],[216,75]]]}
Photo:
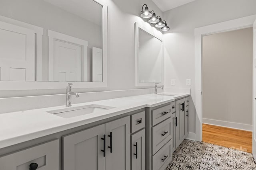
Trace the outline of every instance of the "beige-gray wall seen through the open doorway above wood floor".
{"label": "beige-gray wall seen through the open doorway above wood floor", "polygon": [[203,118],[252,125],[252,28],[204,36],[202,61]]}

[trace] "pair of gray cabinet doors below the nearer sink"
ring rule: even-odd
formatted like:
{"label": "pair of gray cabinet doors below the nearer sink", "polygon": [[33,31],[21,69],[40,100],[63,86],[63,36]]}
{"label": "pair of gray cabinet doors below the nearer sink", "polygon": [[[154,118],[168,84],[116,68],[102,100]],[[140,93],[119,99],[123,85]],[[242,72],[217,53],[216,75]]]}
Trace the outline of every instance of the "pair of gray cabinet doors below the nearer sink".
{"label": "pair of gray cabinet doors below the nearer sink", "polygon": [[63,170],[130,170],[130,116],[66,135],[62,148]]}

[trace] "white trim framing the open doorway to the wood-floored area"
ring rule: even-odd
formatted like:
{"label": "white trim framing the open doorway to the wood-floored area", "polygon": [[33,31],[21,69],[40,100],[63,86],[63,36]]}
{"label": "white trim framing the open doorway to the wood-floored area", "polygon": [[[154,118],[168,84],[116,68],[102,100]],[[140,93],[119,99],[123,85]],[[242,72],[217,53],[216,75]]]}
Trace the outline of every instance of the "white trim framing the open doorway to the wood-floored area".
{"label": "white trim framing the open doorway to the wood-floored area", "polygon": [[[233,31],[237,29],[243,29],[252,27],[254,21],[256,20],[256,15],[247,16],[243,18],[238,18],[235,20],[225,21],[221,23],[216,23],[213,25],[208,25],[204,27],[199,27],[195,29],[195,38],[196,38],[196,141],[202,141],[202,37],[205,35],[211,35],[214,33]],[[254,131],[254,129],[253,129]]]}

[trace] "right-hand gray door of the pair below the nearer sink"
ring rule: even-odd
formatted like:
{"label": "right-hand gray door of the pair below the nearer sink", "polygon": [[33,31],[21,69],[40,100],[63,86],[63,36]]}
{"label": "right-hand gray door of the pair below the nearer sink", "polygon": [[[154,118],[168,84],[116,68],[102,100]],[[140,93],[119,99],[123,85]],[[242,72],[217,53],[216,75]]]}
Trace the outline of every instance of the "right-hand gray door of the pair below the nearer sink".
{"label": "right-hand gray door of the pair below the nearer sink", "polygon": [[105,131],[106,170],[130,170],[130,116],[106,123]]}

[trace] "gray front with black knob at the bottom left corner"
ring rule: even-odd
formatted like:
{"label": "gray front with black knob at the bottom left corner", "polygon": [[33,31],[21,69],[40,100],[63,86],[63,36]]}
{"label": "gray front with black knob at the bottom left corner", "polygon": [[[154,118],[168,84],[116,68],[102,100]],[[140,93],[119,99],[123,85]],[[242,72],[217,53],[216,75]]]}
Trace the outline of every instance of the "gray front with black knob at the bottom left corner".
{"label": "gray front with black knob at the bottom left corner", "polygon": [[29,170],[32,163],[40,170],[59,170],[59,140],[0,157],[0,170]]}

